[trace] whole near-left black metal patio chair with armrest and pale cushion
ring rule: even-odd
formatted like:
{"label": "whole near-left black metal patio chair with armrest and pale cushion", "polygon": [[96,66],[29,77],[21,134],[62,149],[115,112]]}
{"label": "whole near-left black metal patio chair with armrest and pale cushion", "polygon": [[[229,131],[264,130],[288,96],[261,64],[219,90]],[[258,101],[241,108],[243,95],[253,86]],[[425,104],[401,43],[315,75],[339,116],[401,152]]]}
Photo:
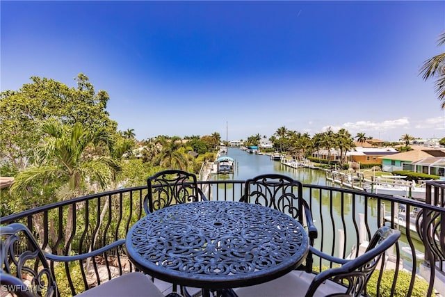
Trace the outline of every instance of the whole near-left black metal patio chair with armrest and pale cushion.
{"label": "whole near-left black metal patio chair with armrest and pale cushion", "polygon": [[[14,294],[13,296],[19,297],[60,296],[54,278],[54,266],[52,264],[50,266],[49,261],[60,262],[60,264],[79,261],[83,264],[84,259],[104,255],[104,252],[118,248],[124,244],[124,240],[120,240],[94,252],[88,252],[82,255],[52,255],[44,252],[29,229],[19,223],[0,227],[0,239],[1,296],[6,296],[8,293],[11,293]],[[83,275],[83,281],[86,281],[85,275]],[[3,293],[6,295],[3,295]],[[97,287],[88,289],[76,296],[163,297],[164,295],[153,282],[149,280],[147,275],[132,272],[103,282]],[[168,296],[178,297],[179,295],[170,293]]]}

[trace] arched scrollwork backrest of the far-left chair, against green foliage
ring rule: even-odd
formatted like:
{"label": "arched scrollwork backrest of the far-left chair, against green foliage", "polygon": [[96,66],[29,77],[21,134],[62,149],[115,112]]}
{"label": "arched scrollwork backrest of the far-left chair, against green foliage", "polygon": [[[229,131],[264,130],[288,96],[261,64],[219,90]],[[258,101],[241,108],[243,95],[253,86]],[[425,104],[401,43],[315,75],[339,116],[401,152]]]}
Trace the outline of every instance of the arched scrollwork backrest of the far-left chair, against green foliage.
{"label": "arched scrollwork backrest of the far-left chair, against green foliage", "polygon": [[183,170],[163,170],[147,179],[148,194],[144,199],[145,213],[172,204],[200,201],[196,175]]}

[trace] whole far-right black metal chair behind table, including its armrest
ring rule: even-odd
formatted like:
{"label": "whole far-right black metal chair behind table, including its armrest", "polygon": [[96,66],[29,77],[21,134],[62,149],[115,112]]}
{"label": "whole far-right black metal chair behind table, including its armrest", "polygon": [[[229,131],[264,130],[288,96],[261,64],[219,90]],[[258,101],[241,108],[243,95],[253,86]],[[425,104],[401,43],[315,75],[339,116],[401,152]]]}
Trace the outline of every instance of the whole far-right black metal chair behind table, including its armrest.
{"label": "whole far-right black metal chair behind table, including its armrest", "polygon": [[[303,198],[301,182],[280,174],[258,175],[245,181],[244,195],[240,201],[261,204],[289,214],[307,227],[309,245],[314,246],[318,233],[309,205]],[[312,272],[312,264],[312,252],[309,250],[305,264],[297,269]]]}

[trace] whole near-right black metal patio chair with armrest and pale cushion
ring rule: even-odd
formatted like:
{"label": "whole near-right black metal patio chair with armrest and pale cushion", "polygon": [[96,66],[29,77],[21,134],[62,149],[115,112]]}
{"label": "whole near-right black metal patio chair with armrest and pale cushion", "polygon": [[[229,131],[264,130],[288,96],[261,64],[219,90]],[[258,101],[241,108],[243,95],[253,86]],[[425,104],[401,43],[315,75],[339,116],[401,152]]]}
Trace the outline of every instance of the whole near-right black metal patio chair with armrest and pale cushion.
{"label": "whole near-right black metal patio chair with armrest and pale cushion", "polygon": [[301,272],[298,275],[298,272],[293,271],[270,282],[234,289],[236,295],[227,296],[362,296],[375,268],[379,263],[383,266],[385,252],[400,236],[398,230],[380,227],[369,242],[366,252],[355,259],[332,257],[312,248],[314,254],[338,267],[332,266],[318,274]]}

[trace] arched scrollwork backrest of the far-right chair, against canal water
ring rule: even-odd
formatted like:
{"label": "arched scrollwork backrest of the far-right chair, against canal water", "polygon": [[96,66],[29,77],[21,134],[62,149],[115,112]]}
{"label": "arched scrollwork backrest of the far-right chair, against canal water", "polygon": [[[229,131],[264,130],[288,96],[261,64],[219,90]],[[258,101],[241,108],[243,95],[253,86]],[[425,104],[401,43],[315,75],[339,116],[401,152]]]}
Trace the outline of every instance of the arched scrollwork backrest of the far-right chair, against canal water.
{"label": "arched scrollwork backrest of the far-right chair, against canal water", "polygon": [[286,175],[271,173],[247,179],[241,201],[277,209],[304,223],[302,184]]}

